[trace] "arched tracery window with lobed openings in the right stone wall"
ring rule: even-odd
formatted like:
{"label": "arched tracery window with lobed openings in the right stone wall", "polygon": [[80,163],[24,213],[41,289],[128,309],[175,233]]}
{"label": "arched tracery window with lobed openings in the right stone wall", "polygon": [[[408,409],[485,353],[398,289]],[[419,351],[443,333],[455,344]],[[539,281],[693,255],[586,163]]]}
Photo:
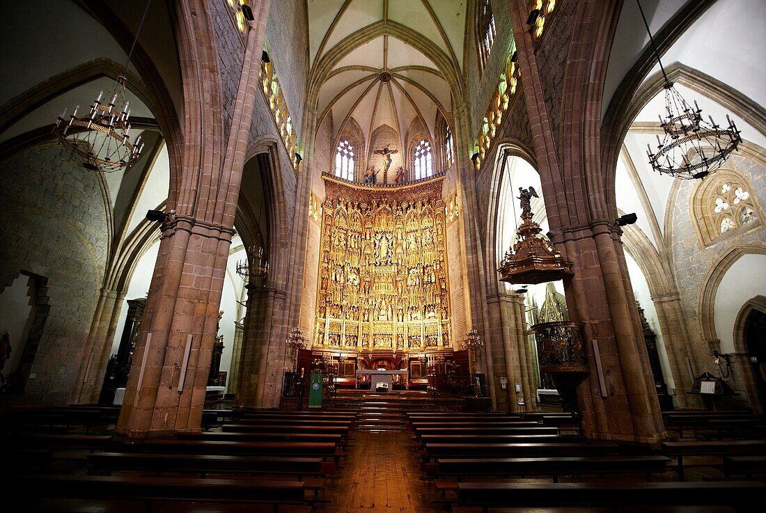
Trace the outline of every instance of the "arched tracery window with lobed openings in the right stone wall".
{"label": "arched tracery window with lobed openings in the right stone wall", "polygon": [[702,182],[692,192],[691,206],[702,247],[758,227],[763,217],[748,178],[729,169]]}

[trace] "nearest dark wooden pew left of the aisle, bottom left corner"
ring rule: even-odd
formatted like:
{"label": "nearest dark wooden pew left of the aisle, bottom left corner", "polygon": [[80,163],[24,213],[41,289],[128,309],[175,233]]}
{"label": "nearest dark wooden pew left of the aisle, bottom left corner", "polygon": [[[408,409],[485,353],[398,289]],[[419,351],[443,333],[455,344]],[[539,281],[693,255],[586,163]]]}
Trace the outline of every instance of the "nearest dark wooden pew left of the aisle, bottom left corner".
{"label": "nearest dark wooden pew left of the aisle, bottom left corner", "polygon": [[61,511],[51,510],[56,504],[50,501],[44,501],[46,506],[42,509],[41,499],[50,498],[76,498],[83,505],[103,500],[142,502],[147,513],[163,502],[260,504],[270,505],[274,513],[282,505],[305,504],[304,483],[300,481],[51,474],[10,475],[5,485],[8,489],[34,490],[24,498],[29,504],[23,510],[13,511]]}

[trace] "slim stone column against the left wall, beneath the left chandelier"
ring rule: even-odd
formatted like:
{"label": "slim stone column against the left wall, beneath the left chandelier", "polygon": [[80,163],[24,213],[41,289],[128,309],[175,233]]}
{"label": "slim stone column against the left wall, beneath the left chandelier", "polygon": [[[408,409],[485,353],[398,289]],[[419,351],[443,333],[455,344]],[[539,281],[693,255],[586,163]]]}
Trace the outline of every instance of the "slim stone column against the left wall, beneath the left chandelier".
{"label": "slim stone column against the left wall, beneath the left chandelier", "polygon": [[72,404],[98,402],[124,299],[125,292],[101,289],[80,364],[79,378],[70,399]]}

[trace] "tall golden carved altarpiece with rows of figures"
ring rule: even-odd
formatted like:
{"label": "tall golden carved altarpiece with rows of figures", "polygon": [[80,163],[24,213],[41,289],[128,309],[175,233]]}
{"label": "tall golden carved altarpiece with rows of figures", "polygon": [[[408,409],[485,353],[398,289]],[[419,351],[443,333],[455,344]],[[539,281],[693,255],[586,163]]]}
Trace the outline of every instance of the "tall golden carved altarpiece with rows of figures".
{"label": "tall golden carved altarpiece with rows of figures", "polygon": [[323,178],[313,349],[451,352],[444,175],[406,185]]}

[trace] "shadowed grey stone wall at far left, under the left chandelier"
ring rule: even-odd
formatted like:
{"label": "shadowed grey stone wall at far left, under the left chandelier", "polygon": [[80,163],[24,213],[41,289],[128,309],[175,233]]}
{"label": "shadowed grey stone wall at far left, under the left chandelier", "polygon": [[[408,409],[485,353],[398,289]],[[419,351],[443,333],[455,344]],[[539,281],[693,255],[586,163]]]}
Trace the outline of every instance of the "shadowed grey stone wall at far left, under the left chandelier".
{"label": "shadowed grey stone wall at far left, under the left chandelier", "polygon": [[[57,145],[0,163],[0,292],[25,271],[47,278],[50,311],[25,402],[68,404],[102,286],[108,227],[99,177]],[[24,326],[19,326],[19,330]]]}

